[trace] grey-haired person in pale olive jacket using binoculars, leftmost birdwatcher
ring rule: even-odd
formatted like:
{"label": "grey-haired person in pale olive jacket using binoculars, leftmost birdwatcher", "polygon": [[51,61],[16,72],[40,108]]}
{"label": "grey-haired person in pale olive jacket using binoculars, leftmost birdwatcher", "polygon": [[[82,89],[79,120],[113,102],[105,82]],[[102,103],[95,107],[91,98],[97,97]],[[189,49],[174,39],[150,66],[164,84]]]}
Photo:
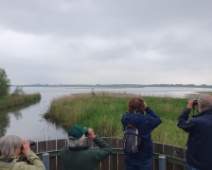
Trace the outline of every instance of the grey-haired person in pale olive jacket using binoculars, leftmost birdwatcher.
{"label": "grey-haired person in pale olive jacket using binoculars, leftmost birdwatcher", "polygon": [[[23,156],[26,161],[20,161]],[[8,135],[0,138],[0,170],[45,170],[45,166],[28,140]]]}

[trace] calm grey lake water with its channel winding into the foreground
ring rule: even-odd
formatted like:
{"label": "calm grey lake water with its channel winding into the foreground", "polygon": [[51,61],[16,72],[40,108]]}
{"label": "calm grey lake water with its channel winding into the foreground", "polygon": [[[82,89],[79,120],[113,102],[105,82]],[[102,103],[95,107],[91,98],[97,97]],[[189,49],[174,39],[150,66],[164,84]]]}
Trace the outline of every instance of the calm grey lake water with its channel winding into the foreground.
{"label": "calm grey lake water with its channel winding into the foreground", "polygon": [[[12,91],[13,89],[11,89]],[[70,87],[24,87],[25,93],[41,94],[41,101],[35,105],[20,110],[19,112],[10,112],[7,114],[9,122],[5,127],[6,135],[16,134],[24,139],[35,141],[63,139],[67,137],[66,132],[56,127],[54,124],[47,122],[42,115],[47,112],[51,101],[64,95],[76,93],[105,92],[126,92],[139,94],[141,96],[169,96],[169,97],[185,97],[187,94],[193,94],[204,91],[212,91],[212,89],[204,88],[70,88]]]}

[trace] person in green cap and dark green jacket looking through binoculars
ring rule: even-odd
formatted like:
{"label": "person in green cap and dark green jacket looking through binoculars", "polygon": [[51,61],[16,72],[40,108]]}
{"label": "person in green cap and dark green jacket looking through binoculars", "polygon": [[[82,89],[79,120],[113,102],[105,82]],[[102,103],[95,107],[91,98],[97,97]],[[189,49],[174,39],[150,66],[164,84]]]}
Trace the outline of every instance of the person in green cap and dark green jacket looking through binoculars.
{"label": "person in green cap and dark green jacket looking through binoculars", "polygon": [[[86,137],[98,148],[85,146]],[[94,170],[99,162],[112,153],[112,148],[92,128],[75,125],[68,131],[68,147],[61,149],[60,160],[63,170]]]}

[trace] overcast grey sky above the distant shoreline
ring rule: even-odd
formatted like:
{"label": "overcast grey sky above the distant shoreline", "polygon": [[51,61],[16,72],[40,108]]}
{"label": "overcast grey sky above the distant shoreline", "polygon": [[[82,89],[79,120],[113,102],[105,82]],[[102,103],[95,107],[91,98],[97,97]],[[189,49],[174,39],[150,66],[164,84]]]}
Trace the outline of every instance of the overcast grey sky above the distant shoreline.
{"label": "overcast grey sky above the distant shoreline", "polygon": [[11,84],[212,85],[211,0],[1,0]]}

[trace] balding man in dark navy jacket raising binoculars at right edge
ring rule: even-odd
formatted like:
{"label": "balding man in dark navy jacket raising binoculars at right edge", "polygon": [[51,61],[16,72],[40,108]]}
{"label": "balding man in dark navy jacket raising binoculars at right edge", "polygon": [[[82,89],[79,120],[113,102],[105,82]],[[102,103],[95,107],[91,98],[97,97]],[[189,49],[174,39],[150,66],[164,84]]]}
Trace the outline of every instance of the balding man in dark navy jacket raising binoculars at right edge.
{"label": "balding man in dark navy jacket raising binoculars at right edge", "polygon": [[212,170],[212,96],[201,95],[196,102],[199,113],[189,119],[195,101],[188,100],[177,126],[189,133],[186,152],[189,170]]}

